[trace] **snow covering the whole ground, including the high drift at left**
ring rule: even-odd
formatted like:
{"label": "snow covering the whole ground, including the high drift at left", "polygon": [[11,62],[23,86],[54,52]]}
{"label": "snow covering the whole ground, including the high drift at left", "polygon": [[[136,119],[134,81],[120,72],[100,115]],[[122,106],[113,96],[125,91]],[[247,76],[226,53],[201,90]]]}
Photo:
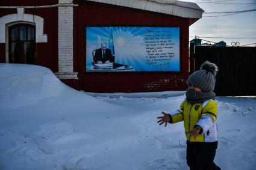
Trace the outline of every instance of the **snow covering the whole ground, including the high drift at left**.
{"label": "snow covering the whole ground, including the high drift at left", "polygon": [[[184,91],[84,93],[45,67],[0,64],[0,169],[189,169],[183,123],[158,126]],[[223,170],[256,167],[256,98],[217,97]]]}

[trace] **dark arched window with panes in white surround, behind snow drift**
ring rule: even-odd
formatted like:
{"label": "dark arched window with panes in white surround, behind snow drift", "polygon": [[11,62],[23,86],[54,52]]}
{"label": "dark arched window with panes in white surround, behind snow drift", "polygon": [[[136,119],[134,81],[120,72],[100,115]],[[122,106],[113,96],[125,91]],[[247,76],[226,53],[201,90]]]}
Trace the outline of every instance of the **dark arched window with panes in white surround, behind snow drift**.
{"label": "dark arched window with panes in white surround, behind snow drift", "polygon": [[34,25],[20,23],[8,28],[9,62],[36,64],[36,31]]}

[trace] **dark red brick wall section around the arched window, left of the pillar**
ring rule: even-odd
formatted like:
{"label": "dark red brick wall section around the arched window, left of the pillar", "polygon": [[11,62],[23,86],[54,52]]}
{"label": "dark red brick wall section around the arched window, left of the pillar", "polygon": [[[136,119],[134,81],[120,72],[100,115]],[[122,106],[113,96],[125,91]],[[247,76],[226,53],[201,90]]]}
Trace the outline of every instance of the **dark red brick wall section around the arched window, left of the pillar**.
{"label": "dark red brick wall section around the arched window, left of the pillar", "polygon": [[[1,6],[18,5],[52,5],[58,1],[1,1]],[[16,9],[1,9],[0,17],[17,13]],[[25,14],[34,14],[44,19],[44,31],[48,37],[47,43],[37,43],[36,64],[58,71],[58,8],[25,8]],[[0,43],[0,62],[5,62],[5,43]]]}

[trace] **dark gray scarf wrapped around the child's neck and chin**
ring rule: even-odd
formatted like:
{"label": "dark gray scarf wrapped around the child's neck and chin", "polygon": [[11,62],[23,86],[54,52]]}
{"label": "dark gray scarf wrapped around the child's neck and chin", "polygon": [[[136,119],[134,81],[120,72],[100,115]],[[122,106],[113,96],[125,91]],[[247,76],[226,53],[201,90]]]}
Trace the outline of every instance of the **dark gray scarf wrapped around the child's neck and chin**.
{"label": "dark gray scarf wrapped around the child's neck and chin", "polygon": [[202,103],[205,100],[213,99],[215,100],[216,94],[213,91],[193,91],[193,90],[187,90],[186,92],[186,100],[191,103]]}

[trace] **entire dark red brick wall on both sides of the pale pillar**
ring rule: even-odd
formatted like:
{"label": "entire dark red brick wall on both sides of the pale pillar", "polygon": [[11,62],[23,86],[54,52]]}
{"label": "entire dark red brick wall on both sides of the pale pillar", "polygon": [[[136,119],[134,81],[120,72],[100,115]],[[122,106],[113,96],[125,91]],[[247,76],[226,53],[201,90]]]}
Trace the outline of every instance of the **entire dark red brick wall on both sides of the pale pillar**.
{"label": "entire dark red brick wall on both sides of the pale pillar", "polygon": [[[35,4],[37,2],[37,4]],[[55,1],[0,1],[0,5],[51,5]],[[63,80],[71,87],[94,92],[139,92],[184,90],[189,76],[189,19],[154,13],[151,11],[119,7],[89,1],[74,1],[73,57],[74,71],[79,81]],[[0,17],[17,13],[16,9],[1,9]],[[25,9],[45,20],[44,34],[47,43],[37,43],[37,63],[58,71],[58,8]],[[84,26],[180,26],[181,73],[86,73],[84,63]],[[0,44],[0,62],[5,62],[5,44]]]}

